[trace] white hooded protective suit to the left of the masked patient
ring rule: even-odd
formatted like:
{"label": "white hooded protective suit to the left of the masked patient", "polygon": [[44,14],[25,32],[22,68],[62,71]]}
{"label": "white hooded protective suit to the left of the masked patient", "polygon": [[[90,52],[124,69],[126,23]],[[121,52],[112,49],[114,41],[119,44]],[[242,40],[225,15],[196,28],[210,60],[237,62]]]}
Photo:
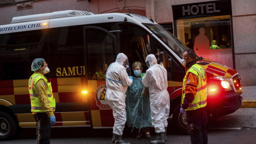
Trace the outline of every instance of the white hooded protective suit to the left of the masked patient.
{"label": "white hooded protective suit to the left of the masked patient", "polygon": [[123,130],[126,122],[126,91],[127,87],[132,84],[132,79],[128,77],[125,67],[123,66],[127,56],[124,53],[119,53],[116,61],[110,64],[106,72],[106,102],[113,109],[115,124],[113,133],[123,135]]}

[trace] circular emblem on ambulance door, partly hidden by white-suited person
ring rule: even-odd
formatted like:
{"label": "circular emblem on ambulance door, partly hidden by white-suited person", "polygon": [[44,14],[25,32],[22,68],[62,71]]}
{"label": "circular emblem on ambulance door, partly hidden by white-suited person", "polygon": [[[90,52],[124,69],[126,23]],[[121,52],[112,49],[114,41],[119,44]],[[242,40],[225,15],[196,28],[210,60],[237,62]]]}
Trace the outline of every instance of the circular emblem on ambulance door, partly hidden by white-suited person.
{"label": "circular emblem on ambulance door, partly hidden by white-suited person", "polygon": [[101,109],[110,109],[110,106],[105,99],[106,89],[106,85],[101,85],[95,91],[96,105]]}

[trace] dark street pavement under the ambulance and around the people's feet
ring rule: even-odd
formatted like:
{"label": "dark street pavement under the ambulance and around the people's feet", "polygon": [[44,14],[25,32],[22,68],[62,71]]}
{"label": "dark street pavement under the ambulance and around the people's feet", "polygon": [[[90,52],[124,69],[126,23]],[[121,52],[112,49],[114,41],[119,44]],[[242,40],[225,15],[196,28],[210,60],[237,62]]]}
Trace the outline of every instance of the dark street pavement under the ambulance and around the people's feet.
{"label": "dark street pavement under the ambulance and around the people's feet", "polygon": [[[167,139],[173,144],[188,144],[189,136],[176,131],[172,119],[168,120]],[[34,144],[35,128],[26,128],[16,138],[10,141],[0,141],[0,144]],[[209,118],[208,144],[255,144],[256,137],[256,108],[240,108],[236,112],[219,117]],[[156,138],[154,129],[151,128],[153,139]],[[137,133],[131,128],[125,128],[123,139],[132,144],[150,143],[150,140],[143,138],[135,140]],[[53,144],[111,144],[112,129],[90,128],[52,128],[51,143]]]}

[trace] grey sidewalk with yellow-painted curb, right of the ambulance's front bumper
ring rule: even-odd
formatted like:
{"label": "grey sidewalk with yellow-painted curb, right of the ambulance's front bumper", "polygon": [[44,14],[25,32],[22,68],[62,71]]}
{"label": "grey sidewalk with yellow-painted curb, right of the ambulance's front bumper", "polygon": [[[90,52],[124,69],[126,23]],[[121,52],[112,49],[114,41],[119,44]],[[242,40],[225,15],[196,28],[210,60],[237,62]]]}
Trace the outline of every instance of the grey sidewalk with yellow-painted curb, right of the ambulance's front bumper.
{"label": "grey sidewalk with yellow-painted curb, right of the ambulance's front bumper", "polygon": [[256,85],[242,86],[243,105],[241,108],[256,108]]}

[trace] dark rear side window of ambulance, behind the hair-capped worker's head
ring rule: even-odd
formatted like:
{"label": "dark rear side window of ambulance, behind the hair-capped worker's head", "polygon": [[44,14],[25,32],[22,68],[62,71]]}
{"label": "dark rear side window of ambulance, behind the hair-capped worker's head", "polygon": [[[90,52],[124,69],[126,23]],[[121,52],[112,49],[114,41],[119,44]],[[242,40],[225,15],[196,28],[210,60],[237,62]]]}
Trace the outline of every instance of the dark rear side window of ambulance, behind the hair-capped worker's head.
{"label": "dark rear side window of ambulance, behind the hair-capped worker's head", "polygon": [[33,60],[48,55],[47,29],[0,34],[0,80],[29,79]]}

